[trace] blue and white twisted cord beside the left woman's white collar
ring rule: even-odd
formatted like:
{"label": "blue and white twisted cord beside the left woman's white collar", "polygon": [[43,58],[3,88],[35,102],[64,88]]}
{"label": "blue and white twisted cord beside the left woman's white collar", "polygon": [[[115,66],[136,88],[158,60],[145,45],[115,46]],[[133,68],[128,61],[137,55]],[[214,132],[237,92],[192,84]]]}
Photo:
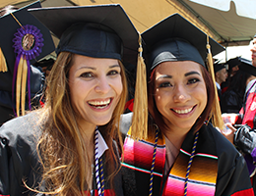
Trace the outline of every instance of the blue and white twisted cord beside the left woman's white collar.
{"label": "blue and white twisted cord beside the left woman's white collar", "polygon": [[[95,162],[96,162],[96,187],[98,196],[104,195],[104,175],[103,175],[103,164],[102,158],[98,159],[98,129],[96,127],[95,134]],[[99,162],[99,164],[98,164]],[[100,175],[99,175],[100,173]],[[100,180],[101,179],[101,180]]]}

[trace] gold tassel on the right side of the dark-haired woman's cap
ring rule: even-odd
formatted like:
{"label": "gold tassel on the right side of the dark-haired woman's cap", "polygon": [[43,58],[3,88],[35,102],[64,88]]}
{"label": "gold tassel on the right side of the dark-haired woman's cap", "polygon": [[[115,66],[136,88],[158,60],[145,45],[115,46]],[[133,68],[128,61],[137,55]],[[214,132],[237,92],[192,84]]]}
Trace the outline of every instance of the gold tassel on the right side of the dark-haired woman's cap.
{"label": "gold tassel on the right side of the dark-haired woman's cap", "polygon": [[[213,56],[211,53],[211,46],[209,44],[209,36],[207,36],[207,45],[206,48],[208,49],[208,55],[207,55],[207,67],[208,71],[212,76],[212,79],[214,81],[214,84],[216,83],[215,80],[215,72],[214,72],[214,64],[213,64]],[[221,129],[224,128],[224,121],[222,118],[222,112],[221,112],[221,107],[219,103],[219,98],[218,98],[218,91],[217,91],[217,86],[215,86],[215,98],[214,98],[214,103],[212,110],[210,112],[210,117],[209,121],[212,119],[212,123],[215,127],[219,127]]]}

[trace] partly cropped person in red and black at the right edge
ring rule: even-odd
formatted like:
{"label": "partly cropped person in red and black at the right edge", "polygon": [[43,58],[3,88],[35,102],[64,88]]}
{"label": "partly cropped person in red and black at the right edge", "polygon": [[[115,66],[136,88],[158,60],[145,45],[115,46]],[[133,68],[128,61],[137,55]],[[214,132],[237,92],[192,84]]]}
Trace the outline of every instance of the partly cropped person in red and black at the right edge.
{"label": "partly cropped person in red and black at the right edge", "polygon": [[[251,74],[256,76],[256,36],[252,40],[253,46],[251,48],[252,52],[252,67],[249,71]],[[224,136],[239,149],[246,160],[248,170],[250,172],[251,181],[256,193],[256,79],[252,79],[248,82],[245,94],[243,106],[239,114],[226,113],[223,114],[224,122],[229,128],[227,132],[223,132]]]}

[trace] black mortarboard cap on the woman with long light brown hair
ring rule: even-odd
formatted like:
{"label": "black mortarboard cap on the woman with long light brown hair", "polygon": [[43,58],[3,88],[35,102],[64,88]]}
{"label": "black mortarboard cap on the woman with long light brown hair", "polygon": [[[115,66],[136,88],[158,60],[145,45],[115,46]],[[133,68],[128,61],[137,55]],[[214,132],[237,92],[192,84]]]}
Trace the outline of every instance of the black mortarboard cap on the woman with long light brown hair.
{"label": "black mortarboard cap on the woman with long light brown hair", "polygon": [[139,34],[119,4],[41,8],[30,12],[60,38],[57,53],[68,51],[136,64]]}

